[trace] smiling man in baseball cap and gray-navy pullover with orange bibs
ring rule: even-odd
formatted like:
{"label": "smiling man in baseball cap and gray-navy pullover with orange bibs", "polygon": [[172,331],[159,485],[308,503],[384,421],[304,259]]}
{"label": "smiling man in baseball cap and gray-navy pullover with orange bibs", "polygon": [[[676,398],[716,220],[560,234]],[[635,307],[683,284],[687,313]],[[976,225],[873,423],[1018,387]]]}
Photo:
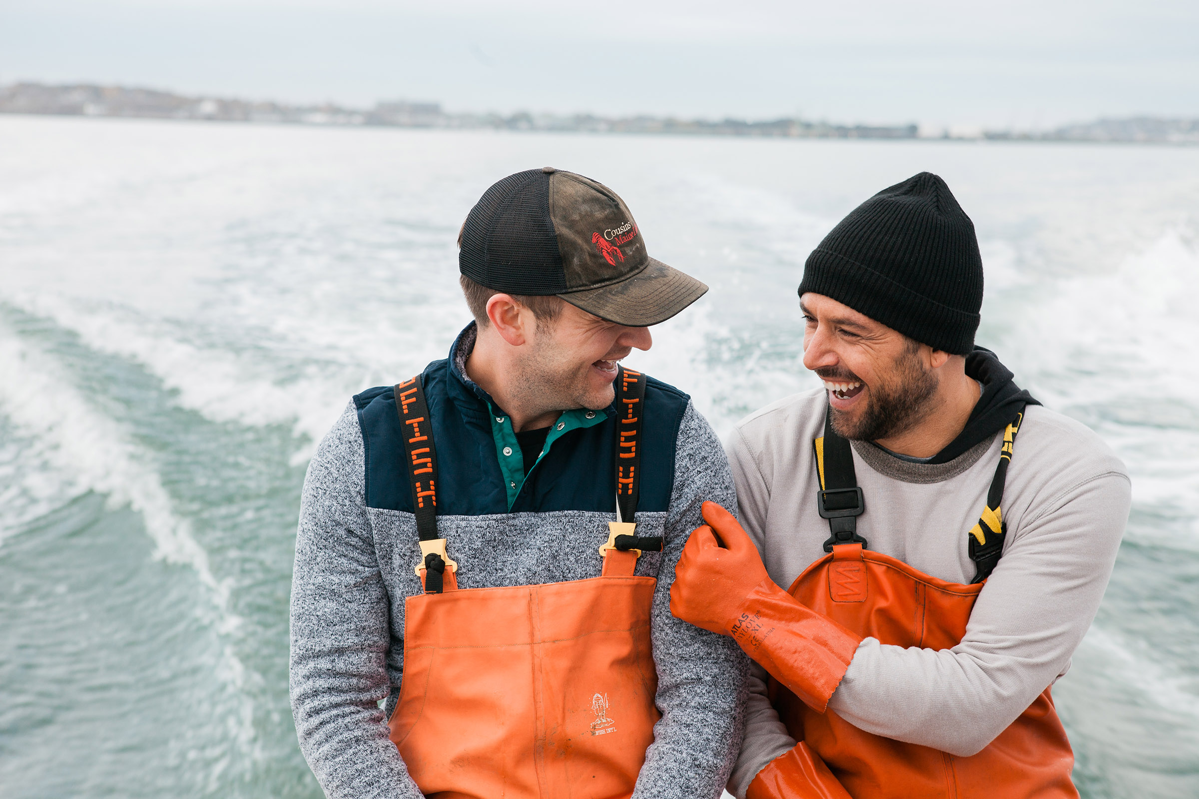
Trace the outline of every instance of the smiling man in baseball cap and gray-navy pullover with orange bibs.
{"label": "smiling man in baseball cap and gray-navy pullover with orange bibs", "polygon": [[488,189],[459,248],[475,320],[356,395],[308,467],[305,757],[347,799],[715,798],[748,661],[669,591],[733,478],[686,394],[619,365],[707,286],[649,256],[611,189],[552,168]]}

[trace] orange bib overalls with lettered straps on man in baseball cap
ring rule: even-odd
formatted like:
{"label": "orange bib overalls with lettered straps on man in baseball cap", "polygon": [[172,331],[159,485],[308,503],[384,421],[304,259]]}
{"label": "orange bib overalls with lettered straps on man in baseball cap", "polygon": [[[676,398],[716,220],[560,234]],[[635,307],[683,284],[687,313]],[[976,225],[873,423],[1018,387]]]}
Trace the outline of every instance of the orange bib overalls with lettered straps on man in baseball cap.
{"label": "orange bib overalls with lettered straps on man in baseball cap", "polygon": [[396,387],[424,593],[404,603],[404,677],[391,740],[438,799],[616,799],[633,793],[661,718],[650,643],[657,580],[633,576],[644,377],[616,377],[617,519],[602,576],[458,589],[436,537],[436,455],[420,377]]}

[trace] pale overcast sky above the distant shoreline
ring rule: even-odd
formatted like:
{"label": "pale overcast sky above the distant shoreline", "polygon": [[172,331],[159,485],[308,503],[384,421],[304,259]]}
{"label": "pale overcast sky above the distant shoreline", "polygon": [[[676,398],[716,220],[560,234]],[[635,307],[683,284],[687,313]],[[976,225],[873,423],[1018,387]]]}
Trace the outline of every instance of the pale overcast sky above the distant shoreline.
{"label": "pale overcast sky above the distant shoreline", "polygon": [[0,0],[0,83],[1047,127],[1199,116],[1197,0]]}

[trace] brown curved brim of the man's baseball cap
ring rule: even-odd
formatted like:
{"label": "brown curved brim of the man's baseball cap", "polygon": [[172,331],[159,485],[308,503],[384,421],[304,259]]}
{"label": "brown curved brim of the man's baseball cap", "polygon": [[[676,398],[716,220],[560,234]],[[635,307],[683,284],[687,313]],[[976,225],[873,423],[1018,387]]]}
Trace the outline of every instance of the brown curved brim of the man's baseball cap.
{"label": "brown curved brim of the man's baseball cap", "polygon": [[656,259],[637,274],[598,289],[558,295],[576,308],[626,327],[664,322],[707,292],[707,286]]}

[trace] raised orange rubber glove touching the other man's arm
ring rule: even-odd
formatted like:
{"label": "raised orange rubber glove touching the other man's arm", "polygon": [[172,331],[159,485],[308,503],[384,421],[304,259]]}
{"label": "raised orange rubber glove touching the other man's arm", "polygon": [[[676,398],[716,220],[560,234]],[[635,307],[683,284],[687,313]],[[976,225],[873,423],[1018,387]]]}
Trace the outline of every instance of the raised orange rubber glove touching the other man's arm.
{"label": "raised orange rubber glove touching the other man's arm", "polygon": [[775,679],[824,713],[862,638],[776,586],[733,514],[715,502],[705,502],[703,514],[707,525],[691,534],[675,568],[670,612],[731,635]]}

